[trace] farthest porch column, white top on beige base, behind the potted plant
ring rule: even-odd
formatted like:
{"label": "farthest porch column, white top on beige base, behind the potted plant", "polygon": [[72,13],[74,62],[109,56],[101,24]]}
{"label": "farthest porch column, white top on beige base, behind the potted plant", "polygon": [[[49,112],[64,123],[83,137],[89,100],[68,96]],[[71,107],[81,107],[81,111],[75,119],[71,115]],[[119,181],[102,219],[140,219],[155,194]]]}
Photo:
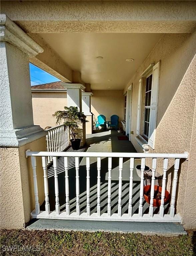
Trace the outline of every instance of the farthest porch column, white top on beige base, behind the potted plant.
{"label": "farthest porch column, white top on beige base, behind the potted plant", "polygon": [[86,134],[93,133],[93,113],[91,113],[91,96],[92,92],[82,92],[82,111],[86,116]]}

